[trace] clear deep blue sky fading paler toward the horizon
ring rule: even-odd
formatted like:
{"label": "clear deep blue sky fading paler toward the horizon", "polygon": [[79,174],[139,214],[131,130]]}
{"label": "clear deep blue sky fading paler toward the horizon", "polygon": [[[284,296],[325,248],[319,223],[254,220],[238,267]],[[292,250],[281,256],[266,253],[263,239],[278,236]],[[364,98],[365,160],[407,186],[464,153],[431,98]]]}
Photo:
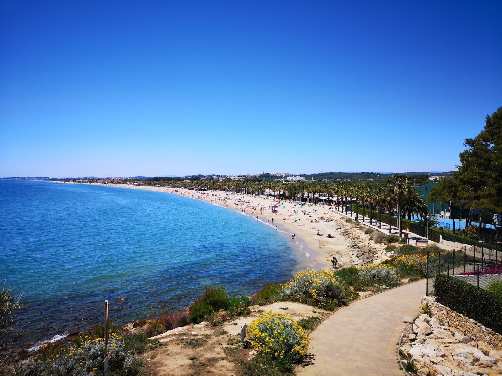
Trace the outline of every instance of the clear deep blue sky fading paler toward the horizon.
{"label": "clear deep blue sky fading paler toward the horizon", "polygon": [[451,170],[502,2],[4,0],[0,176]]}

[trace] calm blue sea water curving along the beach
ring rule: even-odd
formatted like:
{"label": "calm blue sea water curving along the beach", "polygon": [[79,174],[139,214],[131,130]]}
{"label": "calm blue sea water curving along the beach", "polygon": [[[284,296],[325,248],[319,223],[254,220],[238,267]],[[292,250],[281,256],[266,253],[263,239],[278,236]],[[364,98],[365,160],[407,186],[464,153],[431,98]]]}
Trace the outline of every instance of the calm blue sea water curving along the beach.
{"label": "calm blue sea water curving along the beach", "polygon": [[104,299],[124,323],[204,286],[251,294],[309,262],[254,218],[160,192],[0,180],[0,224],[0,279],[27,304],[18,346],[101,323]]}

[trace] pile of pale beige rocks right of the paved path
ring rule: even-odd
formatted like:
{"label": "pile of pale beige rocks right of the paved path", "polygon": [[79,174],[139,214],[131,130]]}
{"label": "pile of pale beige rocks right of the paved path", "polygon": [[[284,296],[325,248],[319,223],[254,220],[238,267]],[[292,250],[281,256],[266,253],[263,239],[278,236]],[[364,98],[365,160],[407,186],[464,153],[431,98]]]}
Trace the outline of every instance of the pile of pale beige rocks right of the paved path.
{"label": "pile of pale beige rocks right of the paved path", "polygon": [[403,361],[413,360],[419,376],[495,376],[502,374],[502,348],[474,341],[461,330],[441,325],[437,315],[420,315],[413,333],[403,333]]}

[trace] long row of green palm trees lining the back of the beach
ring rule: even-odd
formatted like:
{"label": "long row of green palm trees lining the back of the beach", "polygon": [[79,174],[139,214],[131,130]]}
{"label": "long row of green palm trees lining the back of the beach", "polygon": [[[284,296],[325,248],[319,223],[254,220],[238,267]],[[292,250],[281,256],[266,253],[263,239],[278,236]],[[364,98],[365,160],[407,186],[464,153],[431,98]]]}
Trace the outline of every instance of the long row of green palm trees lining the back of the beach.
{"label": "long row of green palm trees lining the back of the beach", "polygon": [[[415,186],[410,179],[403,174],[393,175],[391,178],[382,181],[372,182],[346,182],[346,181],[306,181],[298,180],[294,182],[283,182],[273,180],[262,181],[218,181],[218,180],[145,180],[145,184],[166,185],[171,187],[203,187],[208,190],[228,191],[239,194],[252,194],[257,196],[276,197],[283,200],[298,200],[306,203],[317,204],[325,201],[337,210],[352,216],[355,206],[355,219],[359,220],[359,207],[362,212],[365,209],[371,213],[370,222],[374,213],[371,209],[377,210],[379,214],[379,224],[381,224],[382,214],[390,213],[397,217],[399,234],[401,235],[401,218],[412,220],[414,216],[422,217],[426,221],[427,203],[422,199],[421,194],[415,190]],[[362,215],[362,222],[365,216]],[[391,226],[389,226],[391,232]]]}

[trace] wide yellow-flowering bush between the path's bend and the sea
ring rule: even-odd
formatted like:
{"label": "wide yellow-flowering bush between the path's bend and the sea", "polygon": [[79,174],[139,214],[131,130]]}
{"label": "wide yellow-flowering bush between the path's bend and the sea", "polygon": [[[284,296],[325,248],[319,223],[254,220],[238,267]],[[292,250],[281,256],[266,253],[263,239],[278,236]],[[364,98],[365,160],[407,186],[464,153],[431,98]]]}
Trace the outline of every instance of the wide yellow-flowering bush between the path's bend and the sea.
{"label": "wide yellow-flowering bush between the path's bend and the sea", "polygon": [[323,303],[342,299],[341,278],[329,270],[300,272],[282,285],[281,296],[292,296],[305,303],[323,306]]}

